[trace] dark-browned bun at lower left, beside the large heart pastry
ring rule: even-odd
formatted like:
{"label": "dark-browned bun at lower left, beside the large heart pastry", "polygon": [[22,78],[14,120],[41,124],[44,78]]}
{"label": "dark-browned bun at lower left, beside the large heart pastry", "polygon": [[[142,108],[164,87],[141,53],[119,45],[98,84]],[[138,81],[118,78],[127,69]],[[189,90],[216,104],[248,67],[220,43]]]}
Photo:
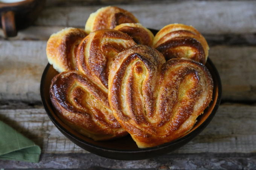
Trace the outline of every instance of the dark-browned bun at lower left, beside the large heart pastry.
{"label": "dark-browned bun at lower left, beside the large heart pastry", "polygon": [[56,75],[50,99],[61,120],[87,137],[108,140],[127,134],[112,115],[108,94],[78,71]]}

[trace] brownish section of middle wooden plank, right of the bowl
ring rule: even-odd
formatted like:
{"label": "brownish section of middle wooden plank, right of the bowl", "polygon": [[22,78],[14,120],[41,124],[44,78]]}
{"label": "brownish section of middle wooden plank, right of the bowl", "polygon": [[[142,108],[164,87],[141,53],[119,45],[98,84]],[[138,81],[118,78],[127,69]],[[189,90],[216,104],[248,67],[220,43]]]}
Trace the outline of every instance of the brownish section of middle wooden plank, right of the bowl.
{"label": "brownish section of middle wooden plank, right of the bowl", "polygon": [[256,48],[212,47],[209,57],[221,77],[224,100],[256,99]]}

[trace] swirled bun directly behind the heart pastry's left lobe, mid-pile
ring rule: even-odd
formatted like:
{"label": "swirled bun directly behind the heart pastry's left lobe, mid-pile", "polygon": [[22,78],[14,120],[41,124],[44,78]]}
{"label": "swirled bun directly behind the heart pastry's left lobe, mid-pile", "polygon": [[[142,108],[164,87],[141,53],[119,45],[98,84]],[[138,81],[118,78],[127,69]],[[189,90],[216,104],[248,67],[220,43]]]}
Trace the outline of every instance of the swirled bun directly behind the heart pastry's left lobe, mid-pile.
{"label": "swirled bun directly behind the heart pastry's left lobe, mid-pile", "polygon": [[77,68],[107,92],[108,72],[115,57],[133,45],[136,43],[130,36],[117,30],[92,32],[78,46]]}

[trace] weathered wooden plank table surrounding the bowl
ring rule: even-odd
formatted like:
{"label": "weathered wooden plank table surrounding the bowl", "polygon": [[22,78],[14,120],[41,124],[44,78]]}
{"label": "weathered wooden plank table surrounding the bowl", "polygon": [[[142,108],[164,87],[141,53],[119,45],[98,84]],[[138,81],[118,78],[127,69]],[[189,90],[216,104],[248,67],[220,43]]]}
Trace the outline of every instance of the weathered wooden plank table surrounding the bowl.
{"label": "weathered wooden plank table surrounding the bowl", "polygon": [[[191,24],[210,45],[222,103],[207,128],[175,152],[140,161],[102,158],[64,137],[41,105],[49,36],[64,27],[83,28],[91,12],[113,4],[133,12],[148,28]],[[256,169],[255,1],[49,0],[33,26],[11,39],[1,33],[0,51],[0,120],[42,148],[39,163],[0,160],[0,168]]]}

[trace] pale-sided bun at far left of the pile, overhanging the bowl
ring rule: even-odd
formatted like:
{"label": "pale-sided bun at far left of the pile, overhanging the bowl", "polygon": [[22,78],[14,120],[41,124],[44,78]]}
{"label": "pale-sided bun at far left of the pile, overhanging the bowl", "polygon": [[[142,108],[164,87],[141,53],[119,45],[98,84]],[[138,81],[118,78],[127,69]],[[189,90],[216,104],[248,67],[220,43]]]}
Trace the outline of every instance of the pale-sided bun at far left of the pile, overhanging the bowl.
{"label": "pale-sided bun at far left of the pile, overhanging the bowl", "polygon": [[76,69],[76,49],[86,36],[84,30],[66,28],[52,34],[47,41],[47,59],[58,72]]}

